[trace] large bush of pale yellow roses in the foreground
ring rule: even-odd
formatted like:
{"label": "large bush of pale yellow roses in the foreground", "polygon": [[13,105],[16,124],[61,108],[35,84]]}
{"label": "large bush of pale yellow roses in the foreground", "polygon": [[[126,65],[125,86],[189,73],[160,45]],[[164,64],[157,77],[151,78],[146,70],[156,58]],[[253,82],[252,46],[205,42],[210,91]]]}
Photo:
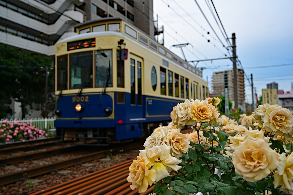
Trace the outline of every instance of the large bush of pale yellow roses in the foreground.
{"label": "large bush of pale yellow roses in the foreground", "polygon": [[[253,115],[232,110],[219,117],[216,100],[186,99],[144,143],[127,178],[139,193],[293,195],[292,122],[289,110],[259,106]],[[240,117],[240,119],[239,119]],[[192,125],[193,132],[179,129]]]}

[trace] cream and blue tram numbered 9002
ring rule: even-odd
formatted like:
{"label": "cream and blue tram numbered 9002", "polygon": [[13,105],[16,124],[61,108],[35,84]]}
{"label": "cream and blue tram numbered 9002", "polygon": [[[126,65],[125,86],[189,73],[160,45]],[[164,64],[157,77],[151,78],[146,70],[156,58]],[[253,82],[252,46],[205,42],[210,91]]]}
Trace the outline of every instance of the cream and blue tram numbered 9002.
{"label": "cream and blue tram numbered 9002", "polygon": [[177,103],[209,96],[202,72],[120,17],[56,43],[56,137],[107,145],[149,134]]}

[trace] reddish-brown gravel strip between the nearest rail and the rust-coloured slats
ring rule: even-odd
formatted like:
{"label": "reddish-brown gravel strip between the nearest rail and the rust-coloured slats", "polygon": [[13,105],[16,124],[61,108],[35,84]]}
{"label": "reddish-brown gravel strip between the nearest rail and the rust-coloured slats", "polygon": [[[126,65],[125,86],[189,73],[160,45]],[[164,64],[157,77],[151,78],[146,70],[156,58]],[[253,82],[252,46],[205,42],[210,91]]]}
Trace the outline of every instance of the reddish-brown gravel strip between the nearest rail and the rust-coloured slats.
{"label": "reddish-brown gravel strip between the nearest rail and the rust-coloured slats", "polygon": [[[78,153],[81,153],[81,152],[76,152],[75,155],[78,155]],[[83,152],[82,154],[84,155],[86,153]],[[98,171],[103,168],[107,168],[109,166],[130,160],[132,158],[136,158],[138,156],[138,154],[139,154],[138,150],[137,150],[137,152],[134,152],[134,151],[126,152],[125,151],[121,154],[115,154],[115,155],[111,156],[110,160],[108,162],[102,162],[98,159],[88,161],[86,163],[94,163],[95,164],[95,166],[89,167],[89,168],[82,167],[80,164],[73,165],[71,167],[60,169],[60,170],[71,170],[72,174],[60,175],[57,172],[51,172],[51,173],[48,173],[45,175],[40,175],[38,177],[31,178],[31,179],[43,180],[43,182],[41,184],[38,184],[38,183],[34,184],[34,187],[30,188],[29,190],[27,189],[28,183],[26,181],[18,181],[13,184],[7,184],[4,186],[0,186],[0,193],[2,193],[3,195],[16,195],[16,194],[25,195],[25,194],[31,193],[33,191],[40,191],[42,189],[46,189],[48,187],[52,187],[54,185],[61,184],[63,182],[67,182],[69,180],[75,179],[77,177],[81,177],[81,176],[86,175],[88,173]],[[58,155],[58,156],[65,157],[66,155],[67,154],[62,154],[62,155]],[[46,157],[46,158],[49,158],[49,157]],[[42,159],[45,159],[45,158],[42,158]],[[54,159],[54,161],[55,160],[56,159]],[[58,160],[62,160],[62,159],[57,159],[57,161]],[[30,162],[30,163],[32,163],[32,162]]]}

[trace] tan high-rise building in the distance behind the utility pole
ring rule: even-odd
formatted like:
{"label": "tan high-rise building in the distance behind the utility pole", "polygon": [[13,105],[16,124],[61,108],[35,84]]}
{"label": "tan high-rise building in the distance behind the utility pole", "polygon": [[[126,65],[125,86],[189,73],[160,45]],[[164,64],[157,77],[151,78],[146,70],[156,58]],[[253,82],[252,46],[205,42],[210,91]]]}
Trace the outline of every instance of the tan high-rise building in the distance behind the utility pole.
{"label": "tan high-rise building in the distance behind the utility pole", "polygon": [[[245,89],[244,89],[244,71],[237,69],[237,87],[238,87],[238,103],[243,105],[245,100]],[[224,96],[225,87],[228,88],[229,100],[234,101],[234,77],[233,69],[214,72],[212,76],[212,96]],[[239,106],[240,107],[240,106]]]}

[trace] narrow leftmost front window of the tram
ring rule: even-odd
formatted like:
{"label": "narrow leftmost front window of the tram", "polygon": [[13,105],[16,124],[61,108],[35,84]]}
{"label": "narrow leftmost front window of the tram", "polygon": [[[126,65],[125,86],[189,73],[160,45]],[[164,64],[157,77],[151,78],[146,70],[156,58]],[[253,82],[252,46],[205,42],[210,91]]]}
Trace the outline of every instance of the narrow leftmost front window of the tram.
{"label": "narrow leftmost front window of the tram", "polygon": [[67,89],[67,55],[57,57],[57,90]]}

